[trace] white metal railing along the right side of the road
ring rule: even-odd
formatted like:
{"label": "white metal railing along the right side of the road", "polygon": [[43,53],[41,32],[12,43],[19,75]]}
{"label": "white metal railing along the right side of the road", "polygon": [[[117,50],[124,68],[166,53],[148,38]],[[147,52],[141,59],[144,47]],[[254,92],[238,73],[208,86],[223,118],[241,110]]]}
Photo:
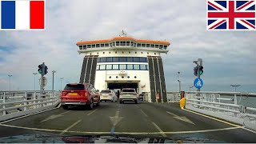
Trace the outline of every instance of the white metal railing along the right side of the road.
{"label": "white metal railing along the right side of the road", "polygon": [[[222,95],[230,95],[234,98],[221,98]],[[256,96],[253,93],[239,92],[186,92],[186,109],[215,118],[222,118],[256,130],[256,109],[238,105],[238,95]]]}

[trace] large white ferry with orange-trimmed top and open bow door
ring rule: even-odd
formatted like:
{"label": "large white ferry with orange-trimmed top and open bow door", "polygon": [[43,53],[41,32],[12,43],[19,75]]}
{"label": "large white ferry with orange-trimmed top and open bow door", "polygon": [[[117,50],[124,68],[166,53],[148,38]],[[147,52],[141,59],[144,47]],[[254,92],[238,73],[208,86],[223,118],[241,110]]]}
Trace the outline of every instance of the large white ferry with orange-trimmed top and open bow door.
{"label": "large white ferry with orange-trimmed top and open bow door", "polygon": [[166,81],[161,53],[167,54],[170,42],[119,37],[77,42],[84,54],[80,83],[91,83],[98,90],[135,88],[145,92],[150,102],[166,102]]}

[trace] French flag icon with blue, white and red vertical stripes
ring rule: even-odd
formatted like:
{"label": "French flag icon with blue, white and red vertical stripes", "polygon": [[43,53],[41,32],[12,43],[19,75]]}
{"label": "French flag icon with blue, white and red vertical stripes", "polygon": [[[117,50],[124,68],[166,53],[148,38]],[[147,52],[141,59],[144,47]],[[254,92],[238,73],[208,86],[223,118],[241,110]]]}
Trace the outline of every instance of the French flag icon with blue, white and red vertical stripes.
{"label": "French flag icon with blue, white and red vertical stripes", "polygon": [[45,0],[0,0],[0,30],[45,30]]}

